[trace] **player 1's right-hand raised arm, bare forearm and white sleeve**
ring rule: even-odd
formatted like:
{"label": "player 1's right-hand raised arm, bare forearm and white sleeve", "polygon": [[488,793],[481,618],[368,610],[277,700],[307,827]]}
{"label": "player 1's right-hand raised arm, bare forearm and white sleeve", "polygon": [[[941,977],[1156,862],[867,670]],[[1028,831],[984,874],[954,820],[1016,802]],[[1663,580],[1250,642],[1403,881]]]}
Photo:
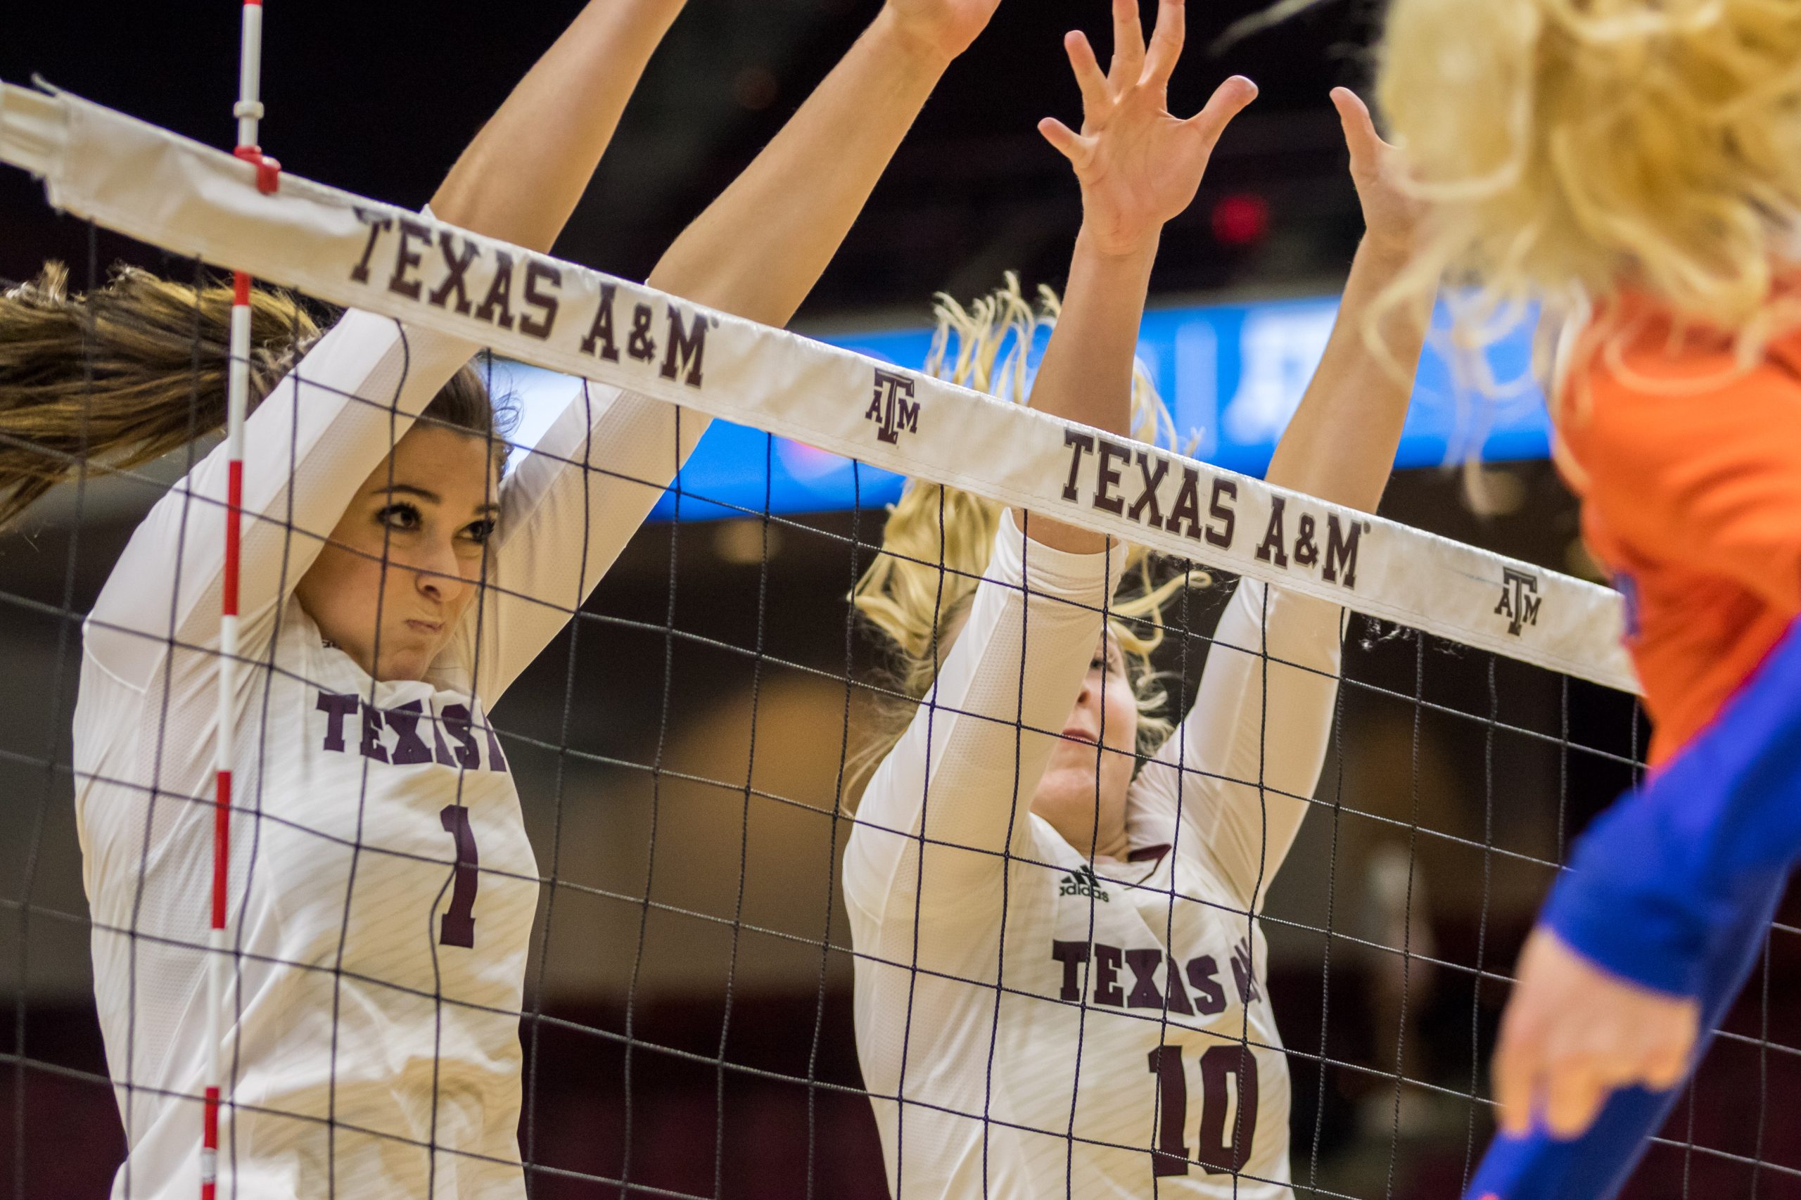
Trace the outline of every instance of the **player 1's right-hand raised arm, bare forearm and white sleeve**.
{"label": "player 1's right-hand raised arm, bare forearm and white sleeve", "polygon": [[[688,225],[650,286],[787,324],[931,90],[998,0],[890,0],[749,168]],[[495,701],[569,622],[710,418],[585,384],[501,488],[475,681]]]}

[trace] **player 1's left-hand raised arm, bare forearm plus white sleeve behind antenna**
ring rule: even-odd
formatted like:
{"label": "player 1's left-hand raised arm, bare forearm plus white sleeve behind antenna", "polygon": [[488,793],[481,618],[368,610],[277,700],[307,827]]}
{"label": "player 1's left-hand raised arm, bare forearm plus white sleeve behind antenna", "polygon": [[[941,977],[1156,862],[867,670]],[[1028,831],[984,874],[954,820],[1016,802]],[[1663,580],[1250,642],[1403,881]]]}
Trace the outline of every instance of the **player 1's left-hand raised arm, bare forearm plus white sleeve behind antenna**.
{"label": "player 1's left-hand raised arm, bare forearm plus white sleeve behind antenna", "polygon": [[[432,196],[441,220],[548,250],[683,0],[596,0],[513,88]],[[546,114],[555,110],[557,119]],[[312,566],[355,488],[475,346],[348,312],[245,422],[240,613],[267,616]],[[218,640],[227,495],[214,449],[137,528],[86,647],[128,686],[171,641]]]}

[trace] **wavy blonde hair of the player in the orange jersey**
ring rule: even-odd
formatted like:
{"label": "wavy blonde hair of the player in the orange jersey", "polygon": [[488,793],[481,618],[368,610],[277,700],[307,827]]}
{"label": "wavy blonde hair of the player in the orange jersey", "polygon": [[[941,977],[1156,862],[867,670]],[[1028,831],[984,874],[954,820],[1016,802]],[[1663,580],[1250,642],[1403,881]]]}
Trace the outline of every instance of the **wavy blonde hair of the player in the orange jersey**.
{"label": "wavy blonde hair of the player in the orange jersey", "polygon": [[1801,0],[1392,0],[1376,90],[1432,209],[1390,292],[1470,285],[1461,350],[1630,290],[1749,366],[1801,315]]}

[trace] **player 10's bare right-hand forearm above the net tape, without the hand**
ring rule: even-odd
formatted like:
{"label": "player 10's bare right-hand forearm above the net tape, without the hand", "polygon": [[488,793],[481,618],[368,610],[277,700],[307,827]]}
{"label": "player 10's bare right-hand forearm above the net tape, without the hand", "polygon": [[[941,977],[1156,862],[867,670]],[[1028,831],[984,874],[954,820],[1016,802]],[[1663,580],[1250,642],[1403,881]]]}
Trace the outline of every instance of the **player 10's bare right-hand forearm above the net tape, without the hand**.
{"label": "player 10's bare right-hand forearm above the net tape, without the hand", "polygon": [[1405,261],[1401,252],[1369,238],[1358,247],[1326,357],[1270,459],[1270,483],[1376,510],[1394,468],[1432,321],[1432,297],[1408,297],[1387,308],[1376,328],[1385,353],[1365,337],[1371,312]]}

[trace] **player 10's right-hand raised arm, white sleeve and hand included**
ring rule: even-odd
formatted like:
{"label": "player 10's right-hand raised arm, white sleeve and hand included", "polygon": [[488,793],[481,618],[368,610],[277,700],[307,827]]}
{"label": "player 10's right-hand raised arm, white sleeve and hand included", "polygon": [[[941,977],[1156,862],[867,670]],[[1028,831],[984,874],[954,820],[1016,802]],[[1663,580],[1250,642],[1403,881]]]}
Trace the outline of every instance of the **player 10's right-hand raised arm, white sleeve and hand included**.
{"label": "player 10's right-hand raised arm, white sleeve and hand included", "polygon": [[[1365,232],[1326,355],[1275,447],[1268,479],[1372,512],[1394,468],[1432,294],[1387,301],[1410,261],[1419,205],[1403,187],[1401,151],[1376,135],[1363,101],[1336,88],[1333,103]],[[1140,773],[1142,818],[1135,818],[1156,822],[1156,840],[1169,840],[1180,813],[1178,849],[1205,856],[1250,908],[1261,906],[1293,845],[1326,762],[1340,618],[1336,604],[1241,582],[1180,741]],[[1270,753],[1272,746],[1281,751]]]}

